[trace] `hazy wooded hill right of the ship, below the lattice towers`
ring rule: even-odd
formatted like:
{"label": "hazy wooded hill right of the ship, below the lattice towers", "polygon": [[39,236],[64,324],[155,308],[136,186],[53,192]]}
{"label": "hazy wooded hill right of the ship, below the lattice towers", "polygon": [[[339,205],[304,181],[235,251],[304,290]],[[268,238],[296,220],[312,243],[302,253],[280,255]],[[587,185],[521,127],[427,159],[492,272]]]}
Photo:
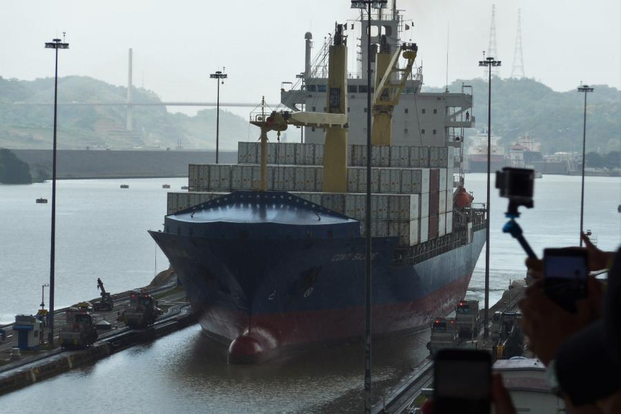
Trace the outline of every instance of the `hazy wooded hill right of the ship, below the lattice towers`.
{"label": "hazy wooded hill right of the ship, below the lattice towers", "polygon": [[[460,91],[462,83],[473,86],[477,128],[487,128],[487,81],[457,79],[449,90]],[[593,88],[586,105],[586,152],[621,150],[621,91],[605,85]],[[442,92],[444,88],[423,90]],[[529,133],[542,143],[544,153],[581,151],[583,114],[584,95],[575,89],[555,92],[533,79],[492,79],[491,129],[505,146]]]}

